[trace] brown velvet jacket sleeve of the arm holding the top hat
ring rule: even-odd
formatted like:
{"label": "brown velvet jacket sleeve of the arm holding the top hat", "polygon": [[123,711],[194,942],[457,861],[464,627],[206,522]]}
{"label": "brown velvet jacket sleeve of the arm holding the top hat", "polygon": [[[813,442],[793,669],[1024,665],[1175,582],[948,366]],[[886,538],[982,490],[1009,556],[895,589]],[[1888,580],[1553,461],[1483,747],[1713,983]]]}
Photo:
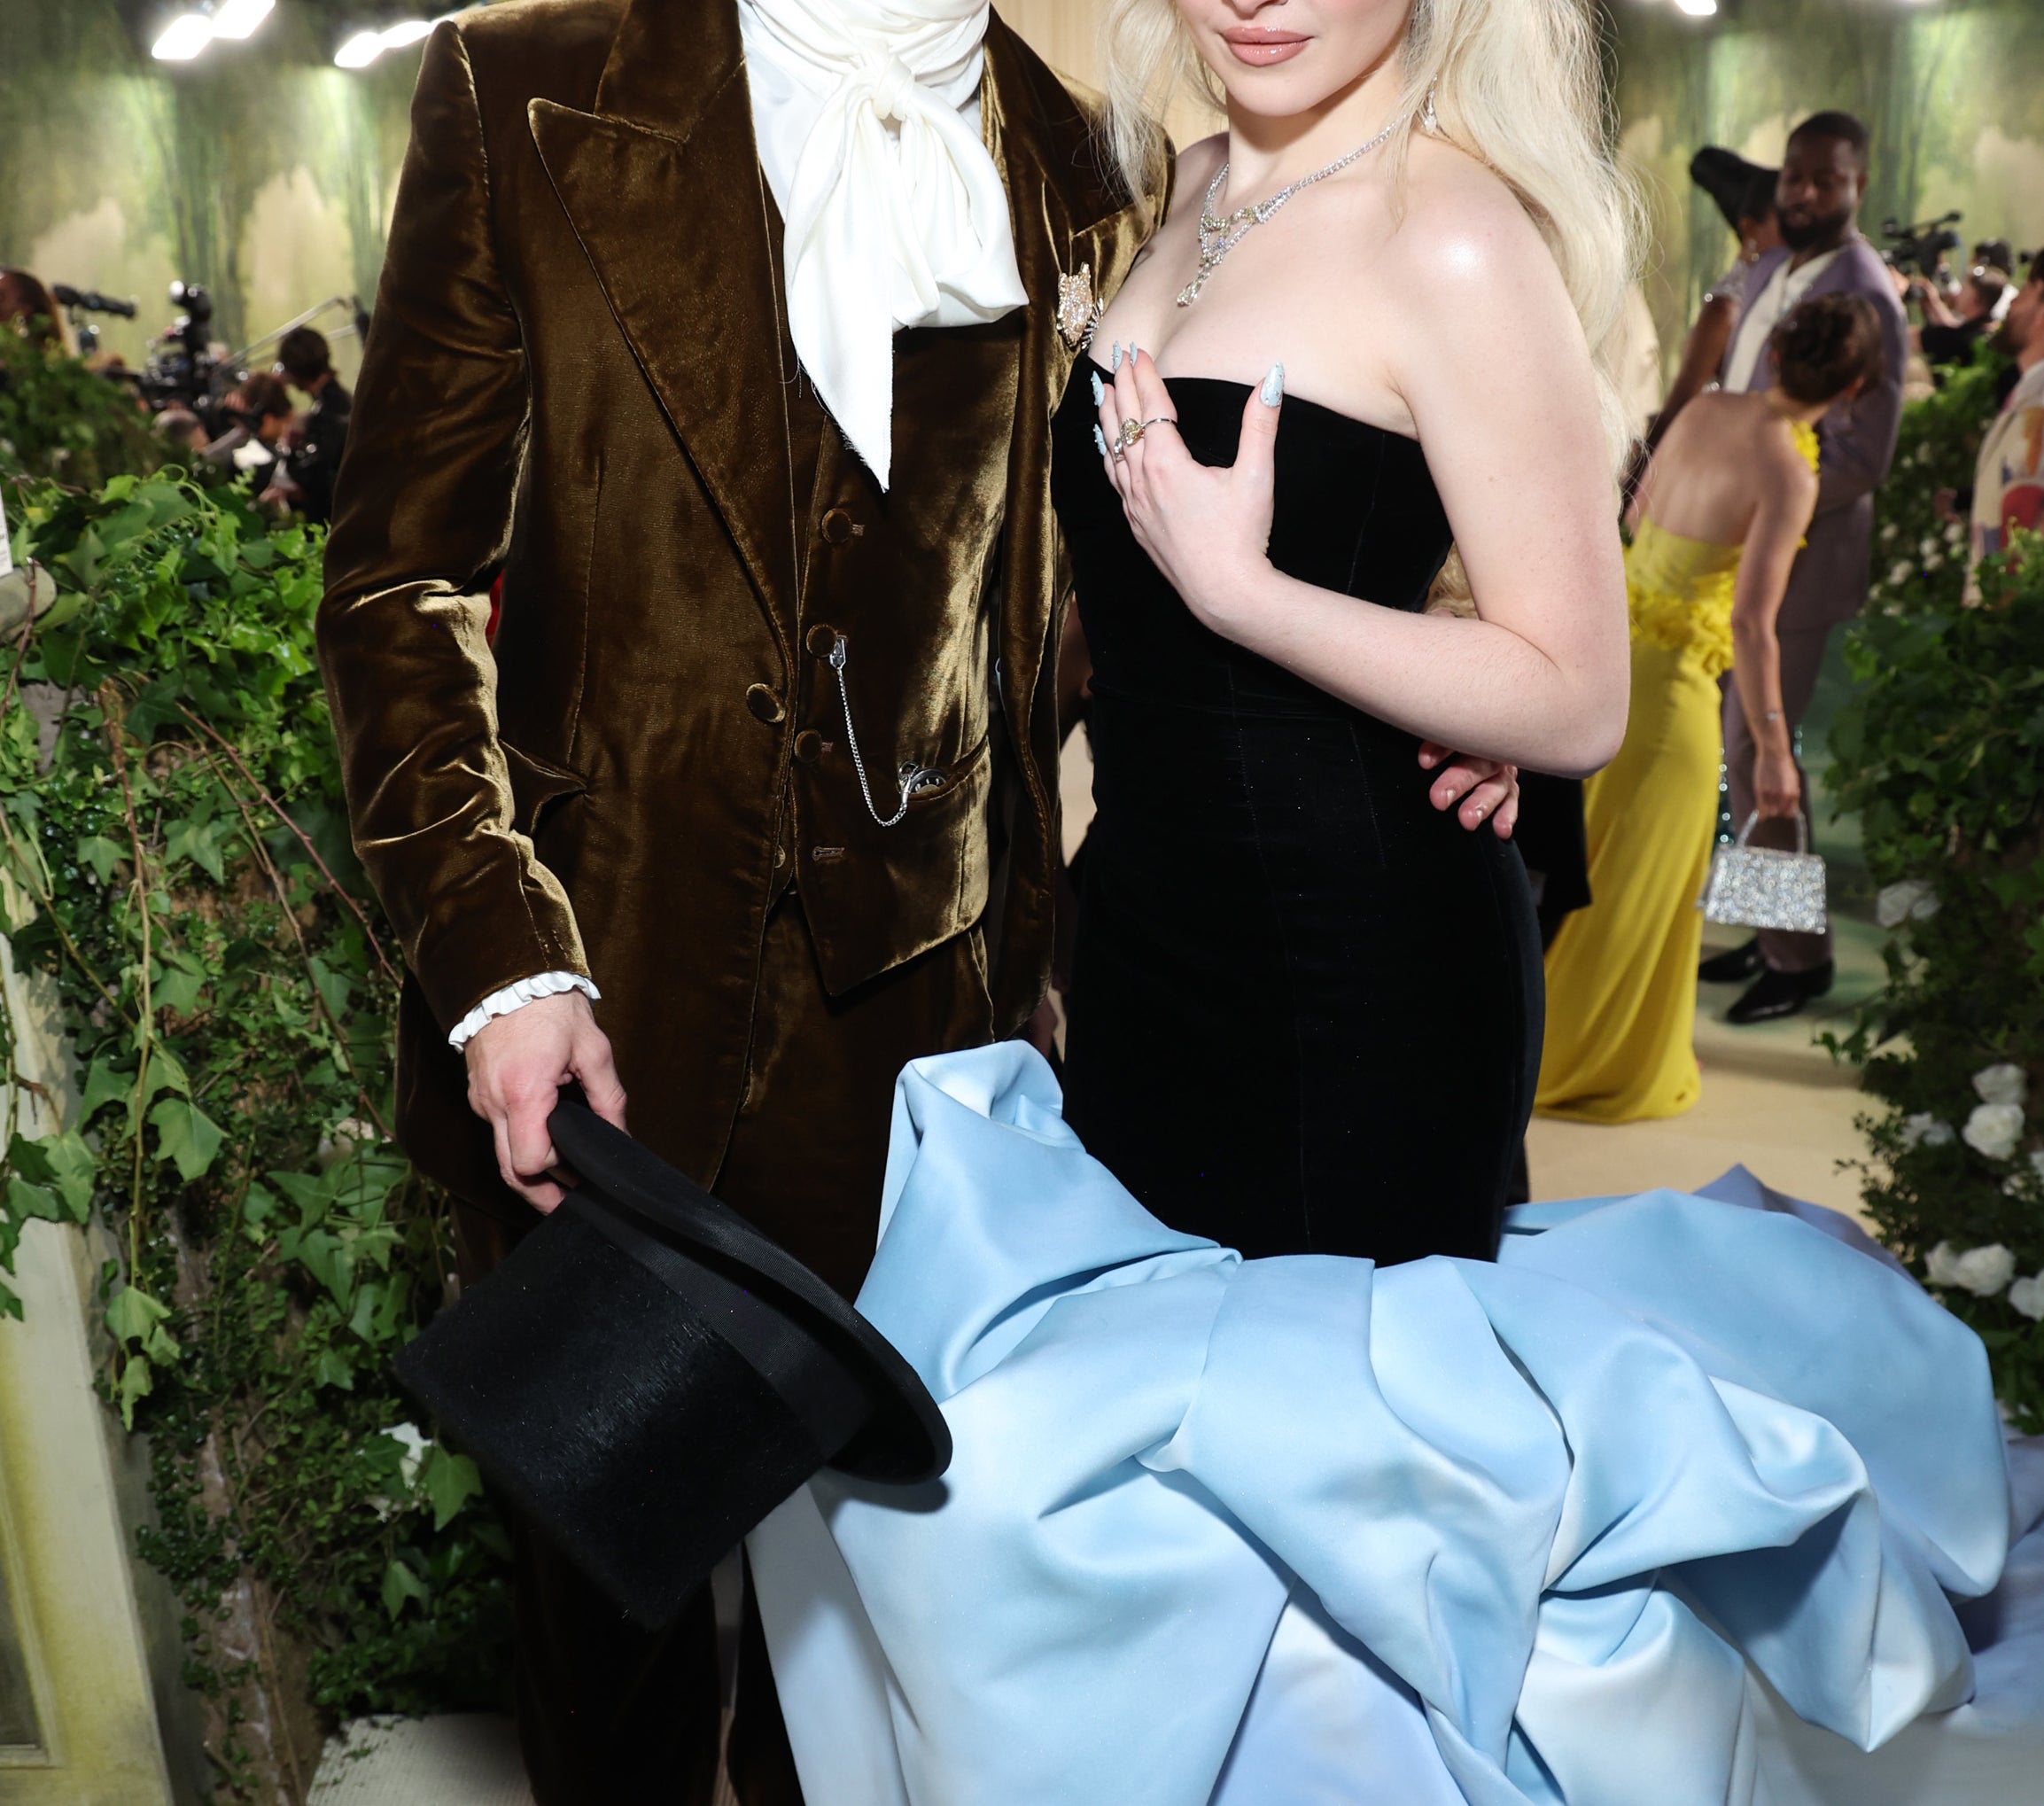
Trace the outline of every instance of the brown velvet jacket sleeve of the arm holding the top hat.
{"label": "brown velvet jacket sleeve of the arm holding the top hat", "polygon": [[341,466],[319,657],[356,849],[444,1029],[536,972],[587,974],[517,832],[484,573],[525,444],[527,372],[460,33],[427,45]]}

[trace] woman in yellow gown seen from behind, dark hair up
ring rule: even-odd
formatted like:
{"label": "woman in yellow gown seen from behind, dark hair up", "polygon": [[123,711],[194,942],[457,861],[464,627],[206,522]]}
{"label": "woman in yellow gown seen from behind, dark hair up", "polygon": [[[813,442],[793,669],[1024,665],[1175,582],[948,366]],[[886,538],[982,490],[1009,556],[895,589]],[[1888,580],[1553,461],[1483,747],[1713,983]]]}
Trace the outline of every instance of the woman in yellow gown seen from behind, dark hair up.
{"label": "woman in yellow gown seen from behind, dark hair up", "polygon": [[1703,1088],[1697,896],[1717,826],[1727,669],[1762,728],[1762,814],[1799,802],[1774,616],[1817,507],[1815,425],[1876,372],[1878,319],[1858,297],[1805,301],[1774,329],[1770,356],[1774,387],[1682,409],[1633,501],[1633,699],[1619,757],[1584,787],[1590,906],[1547,951],[1535,1109],[1549,1117],[1674,1117]]}

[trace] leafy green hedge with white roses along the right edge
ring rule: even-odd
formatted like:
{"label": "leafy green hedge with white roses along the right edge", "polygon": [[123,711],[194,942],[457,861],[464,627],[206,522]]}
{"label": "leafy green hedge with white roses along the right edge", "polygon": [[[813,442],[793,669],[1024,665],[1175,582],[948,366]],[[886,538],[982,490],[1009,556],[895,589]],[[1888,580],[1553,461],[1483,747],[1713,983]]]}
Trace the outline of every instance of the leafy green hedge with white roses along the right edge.
{"label": "leafy green hedge with white roses along the right edge", "polygon": [[[1972,483],[2001,362],[1903,417],[1876,591],[1846,640],[1856,691],[1831,792],[1883,886],[1885,984],[1850,1035],[1883,1109],[1864,1199],[1885,1239],[1987,1342],[2007,1415],[2044,1430],[2044,540],[1981,565],[1940,491]],[[1948,505],[1948,503],[1946,503]],[[1885,569],[1878,569],[1887,560]]]}

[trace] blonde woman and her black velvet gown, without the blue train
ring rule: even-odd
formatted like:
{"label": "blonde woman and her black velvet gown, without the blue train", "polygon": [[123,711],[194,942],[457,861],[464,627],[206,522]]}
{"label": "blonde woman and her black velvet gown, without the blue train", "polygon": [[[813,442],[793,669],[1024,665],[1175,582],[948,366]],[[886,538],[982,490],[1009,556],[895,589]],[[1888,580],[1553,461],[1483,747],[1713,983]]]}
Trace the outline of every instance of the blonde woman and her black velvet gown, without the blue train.
{"label": "blonde woman and her black velvet gown, without the blue train", "polygon": [[[1539,933],[1517,851],[1412,771],[1439,742],[1580,775],[1625,726],[1629,207],[1588,20],[1124,0],[1112,45],[1132,186],[1173,70],[1228,129],[1053,430],[1100,804],[1067,1117],[1243,1254],[1488,1258]],[[1451,542],[1468,620],[1423,612]]]}

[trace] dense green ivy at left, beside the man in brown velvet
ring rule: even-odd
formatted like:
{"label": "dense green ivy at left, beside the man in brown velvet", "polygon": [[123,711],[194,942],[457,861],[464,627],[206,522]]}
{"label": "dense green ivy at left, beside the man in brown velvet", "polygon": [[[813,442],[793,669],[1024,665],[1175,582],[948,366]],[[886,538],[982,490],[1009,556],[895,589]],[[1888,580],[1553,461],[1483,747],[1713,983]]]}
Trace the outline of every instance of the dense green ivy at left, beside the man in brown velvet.
{"label": "dense green ivy at left, beside the man in brown velvet", "polygon": [[397,955],[313,663],[321,536],[176,470],[0,481],[55,589],[4,654],[0,927],[76,1053],[61,1127],[31,1123],[0,1021],[0,1268],[33,1219],[110,1233],[141,1552],[184,1601],[223,1790],[303,1800],[307,1700],[495,1706],[509,1642],[503,1528],[390,1379],[454,1262],[388,1137]]}

